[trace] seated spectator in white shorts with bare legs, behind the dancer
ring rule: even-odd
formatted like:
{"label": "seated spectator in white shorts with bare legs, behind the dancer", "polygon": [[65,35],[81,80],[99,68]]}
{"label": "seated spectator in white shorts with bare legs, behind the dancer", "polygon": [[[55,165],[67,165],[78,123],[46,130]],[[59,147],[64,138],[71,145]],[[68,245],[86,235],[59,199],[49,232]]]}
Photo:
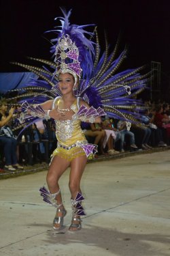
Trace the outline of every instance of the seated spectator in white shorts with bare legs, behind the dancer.
{"label": "seated spectator in white shorts with bare legs, behind the dancer", "polygon": [[101,127],[103,130],[105,130],[105,138],[103,141],[103,149],[105,150],[105,147],[107,145],[107,153],[109,155],[118,154],[119,152],[114,150],[114,143],[116,141],[116,135],[118,132],[115,132],[112,127],[112,124],[110,122],[110,119],[106,117],[103,119],[103,122],[101,122]]}

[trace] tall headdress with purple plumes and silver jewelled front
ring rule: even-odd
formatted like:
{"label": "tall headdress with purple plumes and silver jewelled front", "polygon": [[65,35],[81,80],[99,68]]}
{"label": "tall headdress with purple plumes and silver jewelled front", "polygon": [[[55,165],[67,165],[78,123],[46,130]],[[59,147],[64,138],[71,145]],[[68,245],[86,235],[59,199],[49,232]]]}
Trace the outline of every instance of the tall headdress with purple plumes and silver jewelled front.
{"label": "tall headdress with purple plumes and silver jewelled front", "polygon": [[[91,37],[93,33],[84,30],[89,25],[70,25],[68,14],[61,9],[64,17],[60,17],[61,26],[52,30],[58,35],[57,38],[51,40],[51,53],[53,53],[54,62],[57,63],[56,72],[67,72],[71,70],[80,78],[87,79],[91,75],[93,61],[95,55],[94,42],[86,38]],[[55,18],[58,20],[58,18]],[[90,25],[92,26],[92,25]],[[51,32],[51,31],[48,31]],[[86,36],[85,36],[86,35]]]}

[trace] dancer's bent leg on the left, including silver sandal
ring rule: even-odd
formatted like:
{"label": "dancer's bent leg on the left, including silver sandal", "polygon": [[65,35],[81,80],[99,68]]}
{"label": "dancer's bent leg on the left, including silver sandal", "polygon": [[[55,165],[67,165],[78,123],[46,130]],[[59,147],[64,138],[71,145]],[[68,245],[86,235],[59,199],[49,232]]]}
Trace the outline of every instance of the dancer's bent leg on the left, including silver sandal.
{"label": "dancer's bent leg on the left, including silver sandal", "polygon": [[67,167],[69,167],[69,164],[70,162],[68,162],[64,158],[54,156],[46,177],[48,188],[53,198],[56,200],[57,205],[56,216],[54,217],[53,221],[54,229],[61,229],[61,227],[63,226],[63,218],[67,213],[62,203],[62,197],[60,188],[58,186],[58,180],[60,179],[61,175],[65,172]]}

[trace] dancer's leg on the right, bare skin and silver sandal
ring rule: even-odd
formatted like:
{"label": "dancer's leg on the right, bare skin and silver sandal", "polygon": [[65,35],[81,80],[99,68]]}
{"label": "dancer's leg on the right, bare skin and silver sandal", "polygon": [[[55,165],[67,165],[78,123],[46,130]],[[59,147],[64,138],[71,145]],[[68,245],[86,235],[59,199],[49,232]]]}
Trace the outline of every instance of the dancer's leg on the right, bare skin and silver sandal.
{"label": "dancer's leg on the right, bare skin and silver sandal", "polygon": [[[80,181],[84,168],[86,167],[87,158],[86,156],[79,156],[71,161],[71,171],[69,175],[69,190],[71,192],[71,199],[74,200],[76,195],[81,193]],[[70,231],[76,231],[81,228],[80,216],[73,214],[71,221]]]}

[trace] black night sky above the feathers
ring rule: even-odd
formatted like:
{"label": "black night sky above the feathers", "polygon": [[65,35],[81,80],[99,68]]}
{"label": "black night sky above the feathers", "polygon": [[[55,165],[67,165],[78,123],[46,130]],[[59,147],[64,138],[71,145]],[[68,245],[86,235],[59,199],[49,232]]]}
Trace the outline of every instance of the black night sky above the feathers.
{"label": "black night sky above the feathers", "polygon": [[43,37],[52,36],[44,35],[44,31],[58,24],[54,18],[61,16],[60,6],[72,8],[71,23],[95,23],[101,42],[105,30],[114,47],[120,33],[120,52],[125,44],[129,48],[129,68],[159,61],[162,70],[170,75],[168,0],[1,0],[0,72],[17,71],[18,67],[9,64],[12,60],[25,63],[27,56],[50,58],[50,44]]}

